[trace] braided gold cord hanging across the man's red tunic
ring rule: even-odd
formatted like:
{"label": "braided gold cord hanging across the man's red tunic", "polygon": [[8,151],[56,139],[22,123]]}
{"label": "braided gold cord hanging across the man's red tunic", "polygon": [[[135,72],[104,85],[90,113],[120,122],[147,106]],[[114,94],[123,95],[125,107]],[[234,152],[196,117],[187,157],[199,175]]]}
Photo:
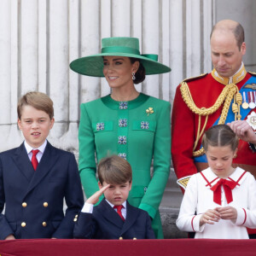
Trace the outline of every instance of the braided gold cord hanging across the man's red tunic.
{"label": "braided gold cord hanging across the man's red tunic", "polygon": [[[187,104],[189,109],[193,113],[199,115],[198,130],[197,130],[197,135],[196,135],[194,148],[193,148],[193,156],[194,157],[201,156],[202,154],[205,154],[205,149],[201,148],[195,151],[195,148],[201,136],[203,135],[203,132],[206,129],[208,116],[216,112],[218,108],[224,103],[224,107],[222,109],[220,118],[218,120],[218,125],[223,125],[225,123],[228,111],[230,109],[230,103],[232,101],[232,98],[234,97],[234,103],[232,104],[232,111],[233,113],[235,113],[235,120],[237,119],[240,120],[241,119],[240,106],[242,103],[241,93],[239,92],[236,84],[227,84],[224,87],[224,90],[222,90],[221,94],[218,96],[217,101],[213,104],[211,108],[197,108],[190,94],[189,85],[186,82],[184,81],[182,82],[180,91],[183,97],[183,101]],[[202,129],[201,129],[201,116],[206,116],[205,124],[203,125]]]}

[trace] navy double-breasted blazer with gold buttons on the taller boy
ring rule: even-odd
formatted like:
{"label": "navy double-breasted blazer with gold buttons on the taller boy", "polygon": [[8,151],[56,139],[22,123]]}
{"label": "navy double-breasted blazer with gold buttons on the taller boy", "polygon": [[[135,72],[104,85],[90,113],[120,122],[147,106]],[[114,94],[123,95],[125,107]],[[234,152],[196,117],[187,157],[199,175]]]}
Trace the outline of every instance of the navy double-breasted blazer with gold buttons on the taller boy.
{"label": "navy double-breasted blazer with gold buttons on the taller boy", "polygon": [[[64,217],[63,200],[67,210]],[[47,142],[34,171],[24,143],[0,154],[0,239],[73,238],[73,218],[84,204],[72,153]]]}

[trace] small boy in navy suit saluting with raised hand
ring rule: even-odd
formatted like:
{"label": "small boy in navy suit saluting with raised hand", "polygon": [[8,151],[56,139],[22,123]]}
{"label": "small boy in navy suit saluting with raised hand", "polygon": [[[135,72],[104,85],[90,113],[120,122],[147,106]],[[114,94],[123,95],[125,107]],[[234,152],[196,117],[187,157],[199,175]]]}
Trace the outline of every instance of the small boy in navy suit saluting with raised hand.
{"label": "small boy in navy suit saluting with raised hand", "polygon": [[[148,212],[131,207],[127,198],[131,190],[131,166],[113,155],[98,166],[99,188],[84,203],[74,228],[74,238],[154,239]],[[93,207],[99,197],[105,198]]]}

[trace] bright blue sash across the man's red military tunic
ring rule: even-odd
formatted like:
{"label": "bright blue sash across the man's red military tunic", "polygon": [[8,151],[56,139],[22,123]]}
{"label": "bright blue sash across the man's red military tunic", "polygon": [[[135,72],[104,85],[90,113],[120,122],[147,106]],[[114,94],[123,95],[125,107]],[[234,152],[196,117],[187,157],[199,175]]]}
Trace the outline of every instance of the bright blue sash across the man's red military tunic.
{"label": "bright blue sash across the man's red military tunic", "polygon": [[[245,93],[247,95],[247,92],[252,90],[250,88],[244,88],[245,85],[247,85],[247,84],[255,84],[255,83],[256,83],[256,77],[253,76],[250,79],[248,79],[247,82],[245,84],[243,84],[241,89],[240,89],[241,96],[243,96],[243,92],[244,91],[245,91]],[[229,109],[229,112],[228,112],[228,115],[227,115],[227,119],[225,120],[225,124],[231,123],[232,121],[235,120],[235,113],[232,112],[232,107],[231,107],[233,103],[234,103],[234,99],[230,103],[230,109]],[[247,109],[240,108],[241,120],[245,119],[247,117],[248,113],[251,110],[252,110],[251,108],[247,108]],[[218,125],[218,120],[219,119],[220,119],[220,116],[218,117],[218,119],[215,121],[215,123],[213,125]],[[202,145],[201,145],[201,147],[202,147]],[[207,163],[207,156],[206,156],[206,154],[203,154],[201,156],[195,157],[194,158],[194,162]]]}

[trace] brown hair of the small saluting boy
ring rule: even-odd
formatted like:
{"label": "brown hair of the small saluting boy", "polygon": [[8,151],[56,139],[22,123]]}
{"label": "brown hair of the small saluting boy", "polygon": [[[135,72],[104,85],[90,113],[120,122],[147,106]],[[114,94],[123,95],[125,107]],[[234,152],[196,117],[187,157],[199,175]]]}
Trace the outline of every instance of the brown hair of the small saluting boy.
{"label": "brown hair of the small saluting boy", "polygon": [[131,183],[131,165],[125,159],[111,155],[103,158],[98,166],[98,177],[101,184],[124,184]]}

